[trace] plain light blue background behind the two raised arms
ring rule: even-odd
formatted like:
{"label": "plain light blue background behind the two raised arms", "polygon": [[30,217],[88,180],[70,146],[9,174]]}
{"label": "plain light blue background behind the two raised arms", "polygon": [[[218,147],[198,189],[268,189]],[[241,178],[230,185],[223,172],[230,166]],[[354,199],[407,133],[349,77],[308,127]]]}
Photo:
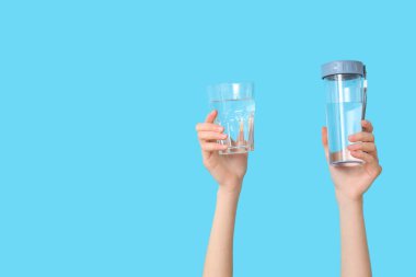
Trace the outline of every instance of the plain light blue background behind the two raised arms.
{"label": "plain light blue background behind the two raised arms", "polygon": [[359,59],[382,176],[374,276],[415,269],[412,1],[2,1],[0,276],[199,276],[206,85],[256,84],[235,276],[337,276],[320,66]]}

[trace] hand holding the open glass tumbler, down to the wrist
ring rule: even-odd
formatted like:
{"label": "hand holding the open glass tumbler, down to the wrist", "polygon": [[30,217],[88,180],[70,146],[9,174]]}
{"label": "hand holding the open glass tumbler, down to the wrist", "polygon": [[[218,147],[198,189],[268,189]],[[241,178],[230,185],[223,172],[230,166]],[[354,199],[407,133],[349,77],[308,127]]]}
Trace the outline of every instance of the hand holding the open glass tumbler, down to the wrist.
{"label": "hand holding the open glass tumbler, down to the wrist", "polygon": [[247,153],[222,155],[218,153],[219,150],[226,150],[228,146],[217,142],[217,140],[227,138],[227,135],[222,134],[223,127],[213,124],[217,114],[217,111],[212,111],[208,114],[205,123],[196,125],[204,165],[220,187],[229,192],[240,192],[247,170]]}

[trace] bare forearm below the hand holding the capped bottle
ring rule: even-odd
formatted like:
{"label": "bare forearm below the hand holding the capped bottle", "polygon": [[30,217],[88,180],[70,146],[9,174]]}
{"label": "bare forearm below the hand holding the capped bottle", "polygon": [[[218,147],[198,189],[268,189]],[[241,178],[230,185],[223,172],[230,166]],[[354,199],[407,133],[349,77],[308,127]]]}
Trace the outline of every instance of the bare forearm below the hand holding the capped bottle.
{"label": "bare forearm below the hand holding the capped bottle", "polygon": [[362,199],[338,200],[340,220],[342,277],[371,277]]}

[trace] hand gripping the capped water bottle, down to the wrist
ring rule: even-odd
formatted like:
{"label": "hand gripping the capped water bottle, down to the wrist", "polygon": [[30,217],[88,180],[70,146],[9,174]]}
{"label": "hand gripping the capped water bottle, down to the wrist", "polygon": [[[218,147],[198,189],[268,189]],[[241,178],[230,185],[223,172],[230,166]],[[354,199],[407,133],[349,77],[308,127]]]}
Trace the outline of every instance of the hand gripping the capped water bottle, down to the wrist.
{"label": "hand gripping the capped water bottle, down to the wrist", "polygon": [[[367,120],[362,120],[361,125],[363,127],[361,132],[349,136],[349,141],[357,143],[348,146],[348,150],[353,157],[363,160],[365,163],[356,166],[330,165],[338,204],[361,200],[363,193],[367,192],[382,170],[374,145],[373,127]],[[326,160],[328,160],[326,127],[322,128],[322,143],[325,149]]]}

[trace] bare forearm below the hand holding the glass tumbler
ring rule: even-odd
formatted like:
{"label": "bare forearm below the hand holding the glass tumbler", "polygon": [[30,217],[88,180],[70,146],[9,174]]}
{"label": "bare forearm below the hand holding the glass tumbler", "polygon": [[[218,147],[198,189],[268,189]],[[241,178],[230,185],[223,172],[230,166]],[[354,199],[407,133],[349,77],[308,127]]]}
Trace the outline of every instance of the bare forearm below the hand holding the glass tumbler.
{"label": "bare forearm below the hand holding the glass tumbler", "polygon": [[204,277],[232,276],[232,247],[239,196],[240,192],[229,192],[221,187],[218,189]]}

